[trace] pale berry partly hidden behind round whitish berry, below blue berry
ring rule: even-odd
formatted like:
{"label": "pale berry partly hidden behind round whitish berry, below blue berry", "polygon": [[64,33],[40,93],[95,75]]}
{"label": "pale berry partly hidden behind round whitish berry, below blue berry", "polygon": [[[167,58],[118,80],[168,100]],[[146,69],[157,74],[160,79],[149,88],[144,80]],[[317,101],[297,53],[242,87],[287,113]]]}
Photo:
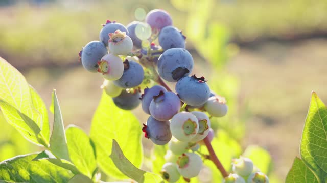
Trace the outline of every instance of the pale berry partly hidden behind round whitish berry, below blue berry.
{"label": "pale berry partly hidden behind round whitish berry, below blue berry", "polygon": [[210,119],[204,112],[192,111],[191,113],[195,115],[199,121],[198,134],[192,139],[192,142],[198,142],[208,135],[210,131]]}

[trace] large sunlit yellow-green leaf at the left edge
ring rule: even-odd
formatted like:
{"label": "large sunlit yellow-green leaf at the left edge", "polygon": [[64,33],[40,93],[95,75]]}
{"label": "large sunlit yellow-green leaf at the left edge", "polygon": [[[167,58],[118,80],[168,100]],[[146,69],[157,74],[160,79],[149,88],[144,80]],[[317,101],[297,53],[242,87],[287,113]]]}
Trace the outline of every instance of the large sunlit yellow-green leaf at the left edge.
{"label": "large sunlit yellow-green leaf at the left edge", "polygon": [[[22,136],[37,145],[48,145],[49,124],[46,115],[43,113],[44,110],[39,96],[34,90],[31,93],[24,76],[1,57],[0,101],[2,101],[0,107],[5,119]],[[21,116],[27,116],[30,121],[25,121]],[[33,123],[26,124],[31,121]]]}

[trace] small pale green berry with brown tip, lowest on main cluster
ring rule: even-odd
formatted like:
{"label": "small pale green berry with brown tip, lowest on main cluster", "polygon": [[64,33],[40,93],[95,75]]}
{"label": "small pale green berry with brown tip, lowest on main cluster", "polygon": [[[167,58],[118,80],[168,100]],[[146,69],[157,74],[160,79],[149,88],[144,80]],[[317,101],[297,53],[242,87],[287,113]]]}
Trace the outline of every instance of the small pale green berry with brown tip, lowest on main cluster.
{"label": "small pale green berry with brown tip, lowest on main cluster", "polygon": [[176,163],[165,163],[164,166],[162,166],[160,174],[162,178],[172,183],[178,181],[180,177]]}

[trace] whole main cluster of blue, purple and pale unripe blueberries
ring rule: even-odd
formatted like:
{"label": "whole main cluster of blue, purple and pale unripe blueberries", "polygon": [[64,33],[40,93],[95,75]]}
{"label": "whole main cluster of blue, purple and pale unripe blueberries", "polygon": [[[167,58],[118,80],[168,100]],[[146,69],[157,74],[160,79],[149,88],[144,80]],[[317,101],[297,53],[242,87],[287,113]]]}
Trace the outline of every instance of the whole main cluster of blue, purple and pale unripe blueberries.
{"label": "whole main cluster of blue, purple and pale unripe blueberries", "polygon": [[[87,71],[102,74],[101,88],[116,106],[132,110],[141,104],[150,115],[142,131],[157,145],[168,143],[161,171],[168,182],[199,174],[202,159],[196,151],[204,138],[214,137],[210,118],[227,113],[226,100],[210,90],[204,77],[191,75],[194,61],[185,39],[166,11],[152,10],[145,22],[127,27],[107,20],[100,41],[79,53]],[[162,79],[175,82],[175,92]]]}

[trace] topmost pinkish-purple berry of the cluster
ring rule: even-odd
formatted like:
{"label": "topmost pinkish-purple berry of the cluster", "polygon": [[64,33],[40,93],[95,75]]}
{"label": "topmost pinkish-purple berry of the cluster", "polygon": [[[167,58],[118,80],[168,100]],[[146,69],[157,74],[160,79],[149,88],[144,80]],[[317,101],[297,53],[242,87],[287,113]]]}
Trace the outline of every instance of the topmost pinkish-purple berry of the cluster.
{"label": "topmost pinkish-purple berry of the cluster", "polygon": [[159,9],[151,10],[147,14],[145,21],[154,31],[160,31],[162,28],[173,24],[169,13]]}

